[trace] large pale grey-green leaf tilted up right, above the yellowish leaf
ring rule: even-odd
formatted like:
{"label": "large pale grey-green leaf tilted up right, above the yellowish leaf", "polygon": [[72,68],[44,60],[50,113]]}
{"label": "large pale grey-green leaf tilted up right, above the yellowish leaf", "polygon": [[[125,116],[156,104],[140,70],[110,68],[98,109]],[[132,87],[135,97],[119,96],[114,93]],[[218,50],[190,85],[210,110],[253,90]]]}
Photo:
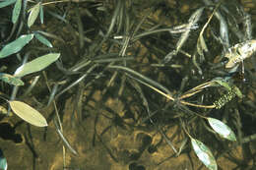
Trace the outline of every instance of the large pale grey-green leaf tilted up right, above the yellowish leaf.
{"label": "large pale grey-green leaf tilted up right, above the yellowish leaf", "polygon": [[29,63],[26,63],[19,67],[16,72],[16,77],[24,77],[34,72],[38,72],[49,66],[51,63],[55,62],[60,56],[60,53],[49,53],[36,59]]}

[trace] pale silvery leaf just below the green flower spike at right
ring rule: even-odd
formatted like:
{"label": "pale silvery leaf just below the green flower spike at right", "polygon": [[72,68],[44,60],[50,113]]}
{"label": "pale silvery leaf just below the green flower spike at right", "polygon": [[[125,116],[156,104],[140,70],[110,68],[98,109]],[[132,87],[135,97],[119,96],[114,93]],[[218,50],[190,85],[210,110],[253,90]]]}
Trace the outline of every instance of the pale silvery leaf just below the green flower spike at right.
{"label": "pale silvery leaf just below the green flower spike at right", "polygon": [[210,126],[217,132],[221,137],[226,140],[235,142],[236,138],[232,130],[226,126],[222,121],[214,118],[207,118]]}

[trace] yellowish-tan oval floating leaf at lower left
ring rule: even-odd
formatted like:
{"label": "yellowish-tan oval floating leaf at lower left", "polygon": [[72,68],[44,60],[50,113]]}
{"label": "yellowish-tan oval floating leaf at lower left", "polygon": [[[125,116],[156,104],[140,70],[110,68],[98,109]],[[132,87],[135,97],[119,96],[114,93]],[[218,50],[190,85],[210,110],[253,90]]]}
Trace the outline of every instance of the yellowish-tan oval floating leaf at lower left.
{"label": "yellowish-tan oval floating leaf at lower left", "polygon": [[30,105],[22,101],[8,101],[13,112],[17,114],[20,118],[26,122],[36,126],[36,127],[46,127],[48,126],[45,118]]}

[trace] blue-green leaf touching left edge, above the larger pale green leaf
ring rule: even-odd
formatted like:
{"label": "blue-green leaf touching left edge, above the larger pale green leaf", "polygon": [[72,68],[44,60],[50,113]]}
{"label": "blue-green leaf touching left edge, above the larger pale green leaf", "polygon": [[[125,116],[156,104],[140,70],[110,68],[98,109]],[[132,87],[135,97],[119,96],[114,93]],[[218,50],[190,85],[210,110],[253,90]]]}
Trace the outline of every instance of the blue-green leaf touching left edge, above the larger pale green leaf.
{"label": "blue-green leaf touching left edge, above the larger pale green leaf", "polygon": [[24,34],[14,41],[8,43],[0,51],[0,58],[5,58],[9,55],[19,52],[27,43],[32,40],[33,34]]}

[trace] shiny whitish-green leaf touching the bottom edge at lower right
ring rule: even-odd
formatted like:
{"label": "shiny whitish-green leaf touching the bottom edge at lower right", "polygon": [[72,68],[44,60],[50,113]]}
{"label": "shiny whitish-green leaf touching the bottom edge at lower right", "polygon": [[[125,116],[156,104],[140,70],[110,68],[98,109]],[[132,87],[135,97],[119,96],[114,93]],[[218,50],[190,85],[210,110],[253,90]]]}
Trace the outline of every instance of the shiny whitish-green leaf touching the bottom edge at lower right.
{"label": "shiny whitish-green leaf touching the bottom edge at lower right", "polygon": [[218,169],[213,153],[203,142],[197,141],[195,139],[191,139],[191,144],[198,158],[206,165],[208,169],[210,170]]}

